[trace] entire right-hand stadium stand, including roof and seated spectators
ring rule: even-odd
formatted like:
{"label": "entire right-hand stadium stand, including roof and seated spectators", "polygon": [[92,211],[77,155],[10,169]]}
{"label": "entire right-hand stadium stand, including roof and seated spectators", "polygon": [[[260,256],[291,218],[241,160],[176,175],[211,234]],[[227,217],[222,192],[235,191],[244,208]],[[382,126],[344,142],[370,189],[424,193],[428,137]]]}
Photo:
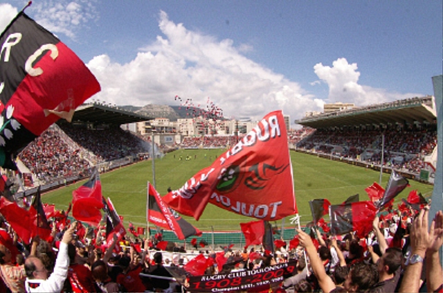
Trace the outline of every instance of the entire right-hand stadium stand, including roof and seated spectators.
{"label": "entire right-hand stadium stand, including roof and seated spectators", "polygon": [[310,116],[296,121],[304,126],[302,131],[311,127],[309,135],[302,138],[305,132],[300,133],[296,148],[395,168],[417,179],[421,170],[435,170],[435,115],[435,100],[426,96]]}

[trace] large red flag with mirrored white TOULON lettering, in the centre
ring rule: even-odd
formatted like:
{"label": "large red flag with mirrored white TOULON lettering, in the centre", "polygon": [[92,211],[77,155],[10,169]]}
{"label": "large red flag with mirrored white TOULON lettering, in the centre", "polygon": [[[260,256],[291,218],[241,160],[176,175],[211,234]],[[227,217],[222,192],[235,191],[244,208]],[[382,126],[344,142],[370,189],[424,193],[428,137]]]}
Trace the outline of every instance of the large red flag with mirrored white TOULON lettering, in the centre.
{"label": "large red flag with mirrored white TOULON lettering, in the centre", "polygon": [[273,221],[297,213],[282,112],[264,116],[233,148],[163,200],[196,220],[208,202],[260,220]]}

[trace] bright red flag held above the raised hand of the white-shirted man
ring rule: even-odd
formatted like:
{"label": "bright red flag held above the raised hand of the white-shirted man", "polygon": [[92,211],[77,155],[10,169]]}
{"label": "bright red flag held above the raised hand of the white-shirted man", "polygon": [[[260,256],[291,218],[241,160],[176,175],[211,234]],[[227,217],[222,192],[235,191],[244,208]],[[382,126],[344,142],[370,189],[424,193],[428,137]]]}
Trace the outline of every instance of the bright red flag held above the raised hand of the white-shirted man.
{"label": "bright red flag held above the raised hand of the white-shirted man", "polygon": [[102,184],[98,170],[91,178],[72,193],[72,216],[78,220],[97,227],[102,220],[103,201]]}

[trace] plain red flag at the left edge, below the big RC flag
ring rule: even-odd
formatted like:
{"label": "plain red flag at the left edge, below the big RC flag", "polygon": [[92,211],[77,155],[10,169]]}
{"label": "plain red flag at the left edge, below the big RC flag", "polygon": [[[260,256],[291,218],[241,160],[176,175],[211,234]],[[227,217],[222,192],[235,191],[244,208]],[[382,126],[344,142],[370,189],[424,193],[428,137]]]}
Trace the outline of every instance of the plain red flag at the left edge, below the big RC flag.
{"label": "plain red flag at the left edge, below the big RC flag", "polygon": [[32,227],[30,214],[24,208],[17,205],[17,202],[10,202],[5,197],[0,197],[0,213],[14,229],[17,236],[24,244],[28,245],[32,237]]}

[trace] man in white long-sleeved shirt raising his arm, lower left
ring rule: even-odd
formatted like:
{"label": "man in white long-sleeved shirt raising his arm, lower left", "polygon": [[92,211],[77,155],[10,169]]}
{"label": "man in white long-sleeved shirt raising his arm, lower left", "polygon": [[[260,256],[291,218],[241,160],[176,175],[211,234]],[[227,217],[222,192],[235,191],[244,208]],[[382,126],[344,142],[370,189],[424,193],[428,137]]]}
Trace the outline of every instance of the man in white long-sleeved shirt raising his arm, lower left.
{"label": "man in white long-sleeved shirt raising his arm, lower left", "polygon": [[30,256],[26,258],[25,270],[26,292],[61,292],[63,289],[64,281],[68,276],[69,256],[68,256],[68,244],[73,239],[73,233],[75,231],[76,223],[72,223],[71,226],[64,232],[62,241],[60,242],[57,259],[55,260],[54,272],[48,277],[48,271],[44,267],[42,260],[36,256]]}

